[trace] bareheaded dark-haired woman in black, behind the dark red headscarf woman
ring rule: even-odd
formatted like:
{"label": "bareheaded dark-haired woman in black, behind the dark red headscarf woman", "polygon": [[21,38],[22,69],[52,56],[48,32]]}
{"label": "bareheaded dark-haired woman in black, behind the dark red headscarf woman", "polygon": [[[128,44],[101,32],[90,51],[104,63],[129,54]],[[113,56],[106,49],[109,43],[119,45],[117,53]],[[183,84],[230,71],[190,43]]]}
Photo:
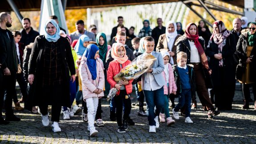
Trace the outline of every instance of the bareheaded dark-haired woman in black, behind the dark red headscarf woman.
{"label": "bareheaded dark-haired woman in black, behind the dark red headscarf woman", "polygon": [[205,41],[205,47],[207,47],[208,42],[211,37],[211,32],[206,25],[204,20],[200,20],[198,24],[198,35],[203,37],[203,40]]}

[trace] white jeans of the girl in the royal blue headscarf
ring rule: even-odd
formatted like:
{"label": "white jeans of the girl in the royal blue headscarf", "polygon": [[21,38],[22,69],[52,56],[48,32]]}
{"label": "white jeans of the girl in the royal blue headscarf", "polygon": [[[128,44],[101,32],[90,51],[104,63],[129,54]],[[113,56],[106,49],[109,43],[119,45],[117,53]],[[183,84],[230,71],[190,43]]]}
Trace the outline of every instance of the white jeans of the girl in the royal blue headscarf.
{"label": "white jeans of the girl in the royal blue headscarf", "polygon": [[98,108],[98,97],[91,97],[86,100],[86,105],[88,109],[88,128],[95,129],[94,119]]}

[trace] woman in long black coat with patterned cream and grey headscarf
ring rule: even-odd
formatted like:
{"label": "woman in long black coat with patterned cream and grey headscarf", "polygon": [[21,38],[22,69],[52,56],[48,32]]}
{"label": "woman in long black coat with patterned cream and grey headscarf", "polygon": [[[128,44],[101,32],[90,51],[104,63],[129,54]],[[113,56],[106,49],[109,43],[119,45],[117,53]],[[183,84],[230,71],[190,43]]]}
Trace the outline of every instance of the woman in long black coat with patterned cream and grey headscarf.
{"label": "woman in long black coat with patterned cream and grey headscarf", "polygon": [[210,57],[215,107],[218,110],[232,110],[232,87],[236,83],[233,70],[235,47],[235,38],[231,32],[225,28],[222,21],[215,21],[206,53]]}

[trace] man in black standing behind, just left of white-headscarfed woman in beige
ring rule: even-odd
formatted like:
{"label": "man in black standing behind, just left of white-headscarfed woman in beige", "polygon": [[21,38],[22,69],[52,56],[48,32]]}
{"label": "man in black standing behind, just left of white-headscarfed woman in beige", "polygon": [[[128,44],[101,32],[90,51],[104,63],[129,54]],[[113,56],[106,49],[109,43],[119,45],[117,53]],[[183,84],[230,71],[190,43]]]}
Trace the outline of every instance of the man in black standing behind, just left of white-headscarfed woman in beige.
{"label": "man in black standing behind, just left of white-headscarfed woman in beige", "polygon": [[152,37],[154,38],[154,51],[158,44],[159,36],[165,33],[166,27],[163,26],[163,20],[161,18],[157,18],[157,27],[155,27],[152,31]]}

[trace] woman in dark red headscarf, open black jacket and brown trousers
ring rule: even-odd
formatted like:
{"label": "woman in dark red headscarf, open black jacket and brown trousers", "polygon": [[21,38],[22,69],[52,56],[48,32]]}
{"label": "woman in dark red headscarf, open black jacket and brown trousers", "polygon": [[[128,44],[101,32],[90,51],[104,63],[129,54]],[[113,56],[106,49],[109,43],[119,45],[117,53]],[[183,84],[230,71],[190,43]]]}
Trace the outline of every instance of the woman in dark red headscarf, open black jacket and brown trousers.
{"label": "woman in dark red headscarf, open black jacket and brown trousers", "polygon": [[[206,76],[211,74],[211,69],[204,52],[204,40],[198,36],[197,26],[194,23],[188,24],[185,34],[176,40],[175,45],[177,45],[177,53],[187,53],[187,64],[194,65],[196,91],[204,109],[208,111],[208,116],[218,115],[219,111],[213,107],[207,90]],[[195,96],[193,95],[192,103],[195,104]]]}

